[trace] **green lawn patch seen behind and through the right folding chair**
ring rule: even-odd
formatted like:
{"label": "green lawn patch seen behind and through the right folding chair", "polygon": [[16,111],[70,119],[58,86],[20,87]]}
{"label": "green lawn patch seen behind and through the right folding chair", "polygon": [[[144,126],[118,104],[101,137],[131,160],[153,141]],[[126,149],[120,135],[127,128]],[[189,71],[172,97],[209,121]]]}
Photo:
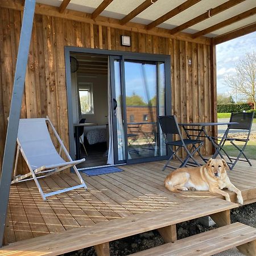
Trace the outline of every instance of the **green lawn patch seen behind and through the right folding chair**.
{"label": "green lawn patch seen behind and through the right folding chair", "polygon": [[[243,145],[242,142],[236,142],[236,144]],[[230,156],[236,157],[239,154],[239,151],[232,144],[230,144],[230,142],[229,143],[227,142],[224,148]],[[245,148],[245,155],[249,159],[256,160],[256,138],[250,139],[250,141],[247,143],[247,146]],[[241,158],[243,158],[243,155],[241,156]]]}

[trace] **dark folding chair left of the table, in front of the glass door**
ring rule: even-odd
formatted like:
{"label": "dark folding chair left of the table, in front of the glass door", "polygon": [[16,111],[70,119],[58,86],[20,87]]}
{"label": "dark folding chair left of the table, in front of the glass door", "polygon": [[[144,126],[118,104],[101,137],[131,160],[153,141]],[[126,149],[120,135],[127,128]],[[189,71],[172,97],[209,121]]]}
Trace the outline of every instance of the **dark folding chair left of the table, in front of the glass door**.
{"label": "dark folding chair left of the table, in front of the glass door", "polygon": [[[199,141],[198,139],[183,139],[179,125],[177,123],[177,118],[175,115],[166,115],[166,116],[160,116],[158,117],[161,129],[163,131],[163,136],[164,136],[164,141],[167,144],[168,148],[171,150],[171,156],[168,159],[167,163],[163,167],[163,171],[166,169],[166,167],[175,169],[172,166],[169,166],[168,164],[170,163],[171,159],[173,156],[176,156],[176,158],[180,161],[181,165],[180,167],[184,167],[187,165],[188,160],[192,159],[193,162],[197,165],[200,166],[200,164],[196,161],[196,159],[193,157],[193,155],[199,150],[201,146],[203,146],[204,142]],[[179,135],[179,140],[178,141],[172,141],[172,138],[170,135],[177,134]],[[193,147],[191,150],[187,148],[187,146],[192,145]],[[196,146],[198,145],[198,146]],[[173,146],[176,146],[176,150],[173,150]],[[182,160],[176,152],[180,149],[184,148],[184,150],[187,152],[187,156],[185,160]]]}

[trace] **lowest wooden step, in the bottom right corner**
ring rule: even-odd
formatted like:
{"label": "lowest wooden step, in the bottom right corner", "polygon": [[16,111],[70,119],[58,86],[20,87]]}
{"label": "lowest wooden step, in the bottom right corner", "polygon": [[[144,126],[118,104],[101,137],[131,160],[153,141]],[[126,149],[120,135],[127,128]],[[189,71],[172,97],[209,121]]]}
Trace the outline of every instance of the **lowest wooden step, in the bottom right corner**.
{"label": "lowest wooden step, in the bottom right corner", "polygon": [[131,254],[133,256],[213,255],[238,247],[245,255],[256,255],[256,229],[240,222],[223,226],[172,243]]}

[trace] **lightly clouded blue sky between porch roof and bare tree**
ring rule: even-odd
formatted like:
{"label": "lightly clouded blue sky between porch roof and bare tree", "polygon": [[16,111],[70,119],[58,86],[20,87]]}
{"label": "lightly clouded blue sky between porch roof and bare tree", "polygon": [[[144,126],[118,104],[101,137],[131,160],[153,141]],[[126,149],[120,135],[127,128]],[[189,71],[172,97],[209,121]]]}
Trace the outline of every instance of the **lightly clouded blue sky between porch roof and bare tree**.
{"label": "lightly clouded blue sky between porch roof and bare tree", "polygon": [[217,93],[227,94],[231,89],[224,84],[226,75],[236,73],[236,64],[246,52],[256,52],[256,32],[241,36],[216,46]]}

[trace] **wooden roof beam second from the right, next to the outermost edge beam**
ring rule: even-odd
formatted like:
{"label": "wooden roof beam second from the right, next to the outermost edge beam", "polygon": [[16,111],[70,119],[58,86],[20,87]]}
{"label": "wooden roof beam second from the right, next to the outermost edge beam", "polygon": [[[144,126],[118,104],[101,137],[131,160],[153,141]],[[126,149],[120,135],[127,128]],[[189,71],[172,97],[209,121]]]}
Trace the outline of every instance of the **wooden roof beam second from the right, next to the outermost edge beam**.
{"label": "wooden roof beam second from the right, next to the outermost edge beam", "polygon": [[248,18],[249,16],[252,16],[254,14],[256,14],[256,7],[254,7],[253,9],[250,9],[248,11],[245,11],[244,13],[241,13],[241,14],[238,14],[236,16],[233,16],[230,19],[226,19],[226,20],[224,20],[224,21],[222,21],[220,23],[217,23],[217,24],[215,24],[215,25],[213,25],[211,27],[205,28],[205,30],[196,32],[195,34],[193,34],[193,38],[198,38],[199,36],[203,36],[203,35],[209,34],[210,32],[219,30],[222,27],[229,26],[230,24],[233,24],[235,22],[238,22],[239,20]]}

